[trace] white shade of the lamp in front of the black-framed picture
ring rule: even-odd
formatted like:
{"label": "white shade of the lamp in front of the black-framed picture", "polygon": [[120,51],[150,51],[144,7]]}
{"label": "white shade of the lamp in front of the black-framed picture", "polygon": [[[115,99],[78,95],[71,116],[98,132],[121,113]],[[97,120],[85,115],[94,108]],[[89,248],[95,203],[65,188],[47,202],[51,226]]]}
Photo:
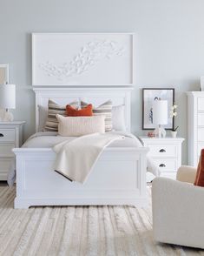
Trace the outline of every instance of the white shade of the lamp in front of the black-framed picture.
{"label": "white shade of the lamp in front of the black-framed picture", "polygon": [[168,101],[155,100],[153,103],[153,124],[167,125],[168,124]]}

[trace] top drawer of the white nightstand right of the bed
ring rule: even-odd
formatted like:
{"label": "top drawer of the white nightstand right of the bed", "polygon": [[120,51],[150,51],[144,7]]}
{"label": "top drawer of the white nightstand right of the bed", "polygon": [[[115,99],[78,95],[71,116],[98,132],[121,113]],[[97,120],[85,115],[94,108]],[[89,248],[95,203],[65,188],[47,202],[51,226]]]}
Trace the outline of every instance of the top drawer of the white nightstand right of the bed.
{"label": "top drawer of the white nightstand right of the bed", "polygon": [[149,155],[154,158],[174,158],[177,156],[176,145],[147,145],[149,147]]}

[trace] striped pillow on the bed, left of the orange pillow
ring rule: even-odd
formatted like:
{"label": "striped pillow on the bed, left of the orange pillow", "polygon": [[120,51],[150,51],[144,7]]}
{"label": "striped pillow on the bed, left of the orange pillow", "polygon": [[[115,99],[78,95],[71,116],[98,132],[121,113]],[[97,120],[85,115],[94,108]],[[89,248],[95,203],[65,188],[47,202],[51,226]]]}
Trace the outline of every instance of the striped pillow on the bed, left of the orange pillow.
{"label": "striped pillow on the bed, left of the orange pillow", "polygon": [[[78,102],[74,101],[69,105],[73,106],[74,108],[78,107]],[[49,99],[48,102],[48,117],[46,123],[44,125],[43,131],[58,131],[58,121],[56,119],[56,114],[62,115],[63,117],[66,116],[66,106],[61,106],[56,104],[56,102]]]}

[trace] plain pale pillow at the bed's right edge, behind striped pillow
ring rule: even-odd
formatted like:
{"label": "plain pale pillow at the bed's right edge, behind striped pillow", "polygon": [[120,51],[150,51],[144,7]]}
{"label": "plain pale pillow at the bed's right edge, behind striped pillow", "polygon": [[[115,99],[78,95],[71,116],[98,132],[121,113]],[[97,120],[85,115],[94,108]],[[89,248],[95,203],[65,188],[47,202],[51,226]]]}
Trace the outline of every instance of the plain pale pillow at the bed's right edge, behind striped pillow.
{"label": "plain pale pillow at the bed's right edge, behind striped pillow", "polygon": [[112,107],[112,125],[114,131],[126,131],[125,106],[123,104]]}

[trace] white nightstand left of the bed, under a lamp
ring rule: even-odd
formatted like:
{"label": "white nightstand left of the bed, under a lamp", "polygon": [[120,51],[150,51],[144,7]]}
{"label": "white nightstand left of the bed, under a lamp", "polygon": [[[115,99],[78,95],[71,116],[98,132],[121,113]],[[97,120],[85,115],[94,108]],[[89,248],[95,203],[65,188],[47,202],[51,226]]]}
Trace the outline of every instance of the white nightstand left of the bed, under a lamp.
{"label": "white nightstand left of the bed, under a lamp", "polygon": [[7,180],[12,149],[23,144],[24,121],[0,122],[0,180]]}

